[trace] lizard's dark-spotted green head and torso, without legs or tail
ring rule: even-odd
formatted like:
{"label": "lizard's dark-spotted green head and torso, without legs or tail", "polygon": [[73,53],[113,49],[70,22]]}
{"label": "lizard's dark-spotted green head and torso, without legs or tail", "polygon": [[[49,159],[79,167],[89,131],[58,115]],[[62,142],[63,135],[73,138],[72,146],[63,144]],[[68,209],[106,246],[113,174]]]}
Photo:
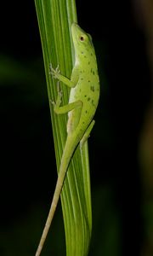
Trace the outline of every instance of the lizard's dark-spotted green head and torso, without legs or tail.
{"label": "lizard's dark-spotted green head and torso, without legs or tail", "polygon": [[77,118],[78,124],[73,127],[72,132],[80,132],[80,139],[94,118],[99,102],[99,74],[91,37],[77,24],[71,27],[72,39],[75,49],[75,66],[71,74],[74,88],[71,88],[69,102],[82,102],[82,112],[76,117],[75,109],[69,113],[69,125]]}

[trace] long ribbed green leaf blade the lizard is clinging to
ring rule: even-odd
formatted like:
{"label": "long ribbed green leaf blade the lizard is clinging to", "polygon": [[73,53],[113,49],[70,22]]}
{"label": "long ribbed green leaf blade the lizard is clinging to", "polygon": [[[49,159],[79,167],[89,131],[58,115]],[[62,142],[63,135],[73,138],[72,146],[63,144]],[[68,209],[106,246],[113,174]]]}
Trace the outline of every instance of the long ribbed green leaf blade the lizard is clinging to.
{"label": "long ribbed green leaf blade the lizard is clinging to", "polygon": [[[35,0],[35,4],[42,41],[48,99],[55,101],[57,81],[49,75],[49,64],[52,63],[53,67],[59,65],[60,72],[66,77],[71,77],[74,62],[71,23],[77,21],[76,4],[74,0]],[[68,102],[70,90],[65,84],[61,84],[61,89],[64,105]],[[54,114],[51,104],[50,112],[55,157],[59,170],[65,147],[67,115]],[[65,224],[66,255],[88,255],[92,229],[88,143],[85,144],[82,154],[78,147],[71,160],[61,194],[61,202]]]}

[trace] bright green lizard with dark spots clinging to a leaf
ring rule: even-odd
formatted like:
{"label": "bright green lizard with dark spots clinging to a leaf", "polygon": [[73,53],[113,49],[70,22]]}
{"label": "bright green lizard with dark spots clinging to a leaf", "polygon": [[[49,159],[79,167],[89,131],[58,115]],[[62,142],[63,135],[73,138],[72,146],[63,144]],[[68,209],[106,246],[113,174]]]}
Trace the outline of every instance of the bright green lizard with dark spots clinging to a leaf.
{"label": "bright green lizard with dark spots clinging to a leaf", "polygon": [[52,66],[50,67],[54,78],[71,87],[71,92],[67,105],[60,107],[61,92],[59,90],[57,101],[54,103],[55,113],[68,113],[67,138],[60,162],[53,201],[39,246],[37,247],[36,256],[40,255],[43,243],[48,235],[72,154],[77,148],[78,143],[80,143],[82,148],[83,143],[88,139],[90,131],[94,126],[94,113],[99,102],[99,74],[92,39],[76,23],[71,25],[71,35],[75,49],[75,65],[71,73],[71,79],[67,79],[60,74],[59,68],[54,69]]}

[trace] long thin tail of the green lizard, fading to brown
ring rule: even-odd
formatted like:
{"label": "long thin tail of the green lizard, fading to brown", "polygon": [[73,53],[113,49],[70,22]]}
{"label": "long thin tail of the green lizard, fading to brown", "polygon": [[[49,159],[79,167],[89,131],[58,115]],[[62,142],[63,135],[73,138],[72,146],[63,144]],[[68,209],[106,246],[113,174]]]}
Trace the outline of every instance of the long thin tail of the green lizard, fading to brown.
{"label": "long thin tail of the green lizard, fading to brown", "polygon": [[48,230],[49,230],[52,220],[54,218],[54,212],[56,210],[56,207],[57,207],[57,204],[59,201],[59,196],[60,196],[61,190],[63,188],[65,174],[66,174],[67,168],[70,164],[72,154],[74,153],[75,148],[77,147],[77,142],[74,143],[74,141],[76,141],[76,139],[73,140],[71,137],[67,137],[67,139],[66,139],[65,148],[64,148],[64,152],[63,152],[60,167],[59,167],[59,177],[57,179],[56,187],[54,189],[53,201],[51,203],[51,207],[48,212],[48,218],[47,218],[45,227],[42,231],[42,237],[41,237],[41,240],[37,247],[37,252],[36,252],[35,256],[39,256],[40,253],[42,252],[42,247],[43,247],[44,241],[46,240],[46,237],[48,235]]}

